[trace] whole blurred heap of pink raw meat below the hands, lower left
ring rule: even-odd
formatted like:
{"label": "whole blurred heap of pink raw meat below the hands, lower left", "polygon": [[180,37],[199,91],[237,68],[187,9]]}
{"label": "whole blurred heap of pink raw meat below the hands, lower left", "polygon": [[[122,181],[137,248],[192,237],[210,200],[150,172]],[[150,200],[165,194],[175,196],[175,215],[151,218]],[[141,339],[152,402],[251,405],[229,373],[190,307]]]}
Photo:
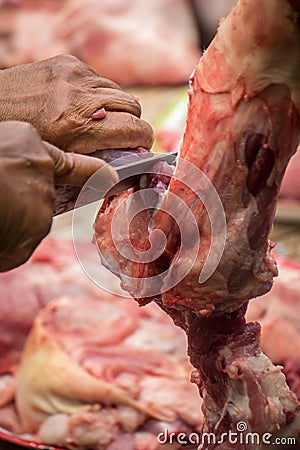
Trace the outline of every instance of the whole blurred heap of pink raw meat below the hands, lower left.
{"label": "whole blurred heap of pink raw meat below the hands, lower left", "polygon": [[166,426],[200,430],[186,338],[155,304],[100,290],[53,239],[0,282],[0,438],[157,450]]}

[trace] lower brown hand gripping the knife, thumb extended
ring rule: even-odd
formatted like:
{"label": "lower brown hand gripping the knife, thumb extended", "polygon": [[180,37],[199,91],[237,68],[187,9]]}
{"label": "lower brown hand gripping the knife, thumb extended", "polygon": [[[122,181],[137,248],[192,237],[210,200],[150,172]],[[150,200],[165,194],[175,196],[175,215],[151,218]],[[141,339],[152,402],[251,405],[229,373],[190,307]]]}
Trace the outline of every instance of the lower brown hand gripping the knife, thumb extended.
{"label": "lower brown hand gripping the knife, thumb extended", "polygon": [[117,178],[101,160],[43,142],[28,123],[0,123],[0,271],[24,263],[48,234],[54,185],[82,186],[102,166],[101,182]]}

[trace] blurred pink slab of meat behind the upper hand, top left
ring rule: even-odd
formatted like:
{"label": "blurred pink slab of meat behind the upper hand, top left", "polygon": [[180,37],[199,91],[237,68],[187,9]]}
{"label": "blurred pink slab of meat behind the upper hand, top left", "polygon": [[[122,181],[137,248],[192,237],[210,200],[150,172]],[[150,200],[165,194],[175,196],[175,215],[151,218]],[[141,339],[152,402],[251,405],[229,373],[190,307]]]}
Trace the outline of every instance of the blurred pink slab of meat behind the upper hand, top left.
{"label": "blurred pink slab of meat behind the upper hand, top left", "polygon": [[14,3],[0,11],[2,68],[71,53],[123,85],[160,85],[187,82],[200,56],[185,0]]}

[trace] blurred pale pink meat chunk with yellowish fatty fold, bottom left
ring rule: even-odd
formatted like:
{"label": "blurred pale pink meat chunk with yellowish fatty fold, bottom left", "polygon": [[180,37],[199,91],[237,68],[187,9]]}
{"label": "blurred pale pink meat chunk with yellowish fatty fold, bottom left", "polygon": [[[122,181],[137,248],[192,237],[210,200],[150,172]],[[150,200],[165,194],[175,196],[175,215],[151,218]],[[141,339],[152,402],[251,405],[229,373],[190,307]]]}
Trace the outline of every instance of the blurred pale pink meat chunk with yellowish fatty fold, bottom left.
{"label": "blurred pale pink meat chunk with yellowish fatty fold, bottom left", "polygon": [[[24,429],[38,432],[41,442],[65,446],[73,439],[90,448],[85,434],[92,426],[89,445],[98,449],[149,418],[199,425],[185,337],[169,320],[156,307],[141,310],[107,293],[97,300],[61,298],[43,309],[18,370],[16,404]],[[85,421],[90,425],[79,436]],[[54,423],[55,435],[47,438]]]}

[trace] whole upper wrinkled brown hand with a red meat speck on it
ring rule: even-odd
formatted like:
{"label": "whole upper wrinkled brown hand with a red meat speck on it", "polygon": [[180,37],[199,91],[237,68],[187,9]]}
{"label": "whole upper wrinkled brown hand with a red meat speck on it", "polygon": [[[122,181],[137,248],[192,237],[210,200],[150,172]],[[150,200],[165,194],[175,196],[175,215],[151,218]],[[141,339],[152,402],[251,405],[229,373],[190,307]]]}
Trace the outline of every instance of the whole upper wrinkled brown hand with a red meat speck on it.
{"label": "whole upper wrinkled brown hand with a red meat speck on it", "polygon": [[[91,116],[104,108],[104,115]],[[59,55],[0,71],[0,121],[31,123],[65,151],[150,148],[153,133],[138,100],[79,59]]]}

